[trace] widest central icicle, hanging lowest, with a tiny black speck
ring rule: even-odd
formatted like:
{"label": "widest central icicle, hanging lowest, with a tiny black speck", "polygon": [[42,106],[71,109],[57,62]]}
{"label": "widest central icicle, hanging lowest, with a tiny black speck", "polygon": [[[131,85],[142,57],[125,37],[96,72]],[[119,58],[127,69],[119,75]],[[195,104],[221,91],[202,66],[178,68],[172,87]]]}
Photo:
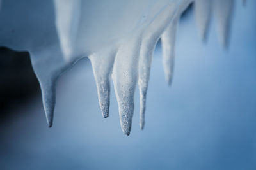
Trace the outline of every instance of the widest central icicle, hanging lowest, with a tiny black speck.
{"label": "widest central icicle, hanging lowest, with a tiny black speck", "polygon": [[124,41],[116,53],[113,67],[113,83],[118,103],[122,130],[129,136],[134,111],[134,90],[138,79],[138,55],[141,34]]}

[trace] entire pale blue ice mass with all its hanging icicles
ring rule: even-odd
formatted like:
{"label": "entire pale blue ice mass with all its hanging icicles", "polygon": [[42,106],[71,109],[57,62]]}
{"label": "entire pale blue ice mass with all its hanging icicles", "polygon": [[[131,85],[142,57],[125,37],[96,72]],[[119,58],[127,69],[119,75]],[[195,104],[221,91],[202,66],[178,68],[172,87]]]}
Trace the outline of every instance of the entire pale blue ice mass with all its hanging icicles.
{"label": "entire pale blue ice mass with all its hanging icicles", "polygon": [[172,83],[179,18],[191,3],[202,39],[213,11],[220,43],[227,46],[233,0],[0,0],[0,45],[29,52],[49,127],[58,77],[88,57],[103,117],[109,116],[112,77],[122,130],[129,135],[136,83],[141,129],[145,125],[150,66],[159,39],[166,81]]}

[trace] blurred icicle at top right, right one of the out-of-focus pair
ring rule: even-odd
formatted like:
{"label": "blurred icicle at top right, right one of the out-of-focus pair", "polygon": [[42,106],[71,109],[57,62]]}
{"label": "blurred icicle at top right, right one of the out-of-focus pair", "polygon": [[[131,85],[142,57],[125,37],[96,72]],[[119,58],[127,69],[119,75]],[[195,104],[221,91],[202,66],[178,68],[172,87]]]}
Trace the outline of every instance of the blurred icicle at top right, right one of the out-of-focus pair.
{"label": "blurred icicle at top right, right one of the out-of-focus pair", "polygon": [[228,36],[230,31],[231,17],[233,10],[233,0],[215,0],[214,17],[219,34],[220,43],[223,47],[228,46]]}

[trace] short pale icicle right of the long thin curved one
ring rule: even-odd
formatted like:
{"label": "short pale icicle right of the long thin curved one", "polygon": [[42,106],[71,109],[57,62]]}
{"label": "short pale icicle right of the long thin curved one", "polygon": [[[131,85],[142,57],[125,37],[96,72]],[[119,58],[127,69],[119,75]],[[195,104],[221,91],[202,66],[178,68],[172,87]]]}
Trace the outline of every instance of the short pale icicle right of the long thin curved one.
{"label": "short pale icicle right of the long thin curved one", "polygon": [[163,50],[163,67],[165,80],[168,85],[172,84],[173,67],[175,60],[175,40],[176,32],[179,24],[179,17],[175,17],[173,22],[167,27],[161,36],[161,45]]}

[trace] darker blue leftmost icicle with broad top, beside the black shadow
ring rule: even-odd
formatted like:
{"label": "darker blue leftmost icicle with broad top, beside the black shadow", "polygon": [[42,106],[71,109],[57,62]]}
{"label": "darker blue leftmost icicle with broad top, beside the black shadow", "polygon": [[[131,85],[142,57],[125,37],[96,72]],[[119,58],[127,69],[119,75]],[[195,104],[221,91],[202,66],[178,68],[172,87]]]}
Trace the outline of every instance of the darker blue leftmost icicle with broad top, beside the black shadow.
{"label": "darker blue leftmost icicle with broad top, beside the black shadow", "polygon": [[[47,50],[29,52],[33,70],[40,83],[45,116],[52,127],[56,101],[56,82],[58,78],[75,62],[65,62],[59,45],[52,45]],[[47,66],[47,67],[45,67]]]}

